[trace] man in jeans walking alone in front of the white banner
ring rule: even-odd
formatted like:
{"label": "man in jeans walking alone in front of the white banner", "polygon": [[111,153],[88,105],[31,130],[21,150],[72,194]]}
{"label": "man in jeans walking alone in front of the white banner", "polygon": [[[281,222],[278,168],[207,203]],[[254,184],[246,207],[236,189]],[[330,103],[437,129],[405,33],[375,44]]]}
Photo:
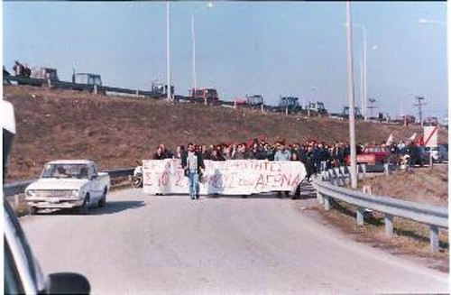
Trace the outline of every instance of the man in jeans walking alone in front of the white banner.
{"label": "man in jeans walking alone in front of the white banner", "polygon": [[197,152],[193,143],[188,143],[188,153],[181,160],[185,176],[189,178],[189,196],[191,199],[199,198],[199,178],[201,169],[205,169],[204,160],[200,152]]}

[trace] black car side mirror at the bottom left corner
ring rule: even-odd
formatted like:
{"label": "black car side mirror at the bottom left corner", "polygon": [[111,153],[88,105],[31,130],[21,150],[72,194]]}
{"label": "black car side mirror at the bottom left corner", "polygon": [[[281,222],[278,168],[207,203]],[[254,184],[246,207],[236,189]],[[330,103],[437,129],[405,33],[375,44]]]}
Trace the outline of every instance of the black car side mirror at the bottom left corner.
{"label": "black car side mirror at the bottom left corner", "polygon": [[49,294],[89,294],[91,285],[87,278],[74,272],[57,272],[49,275]]}

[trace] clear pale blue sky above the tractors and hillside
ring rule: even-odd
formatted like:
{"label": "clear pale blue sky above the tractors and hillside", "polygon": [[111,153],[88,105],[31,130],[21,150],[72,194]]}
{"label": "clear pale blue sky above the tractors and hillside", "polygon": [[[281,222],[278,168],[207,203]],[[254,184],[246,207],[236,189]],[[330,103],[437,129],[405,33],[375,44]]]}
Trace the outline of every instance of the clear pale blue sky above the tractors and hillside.
{"label": "clear pale blue sky above the tractors and hillside", "polygon": [[[165,2],[3,2],[3,64],[58,69],[61,80],[97,73],[106,86],[147,90],[166,81]],[[367,33],[367,97],[374,114],[447,116],[446,2],[353,2]],[[175,93],[193,86],[191,15],[198,88],[233,100],[260,94],[347,105],[345,2],[170,2]],[[428,19],[437,23],[419,23]],[[363,31],[354,27],[354,94],[362,102]],[[368,114],[370,114],[368,112]]]}

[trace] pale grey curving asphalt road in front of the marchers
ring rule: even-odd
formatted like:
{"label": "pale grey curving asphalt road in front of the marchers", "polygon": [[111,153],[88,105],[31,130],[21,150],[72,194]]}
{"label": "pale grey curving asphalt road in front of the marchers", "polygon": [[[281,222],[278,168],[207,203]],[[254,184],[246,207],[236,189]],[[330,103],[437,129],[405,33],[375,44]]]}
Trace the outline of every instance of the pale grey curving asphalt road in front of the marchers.
{"label": "pale grey curving asphalt road in front of the marchers", "polygon": [[93,294],[448,290],[445,273],[350,241],[299,210],[312,201],[127,189],[89,216],[21,223],[44,272],[83,273]]}

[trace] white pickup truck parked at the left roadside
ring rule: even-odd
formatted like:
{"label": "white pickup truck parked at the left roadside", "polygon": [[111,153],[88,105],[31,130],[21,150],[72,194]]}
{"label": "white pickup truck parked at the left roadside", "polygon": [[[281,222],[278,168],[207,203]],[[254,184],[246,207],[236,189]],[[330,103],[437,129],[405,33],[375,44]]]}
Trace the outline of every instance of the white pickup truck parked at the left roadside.
{"label": "white pickup truck parked at the left roadside", "polygon": [[106,205],[109,189],[109,175],[97,172],[93,161],[51,161],[45,164],[39,180],[25,189],[25,201],[31,214],[42,208],[75,208],[86,215],[88,207]]}

